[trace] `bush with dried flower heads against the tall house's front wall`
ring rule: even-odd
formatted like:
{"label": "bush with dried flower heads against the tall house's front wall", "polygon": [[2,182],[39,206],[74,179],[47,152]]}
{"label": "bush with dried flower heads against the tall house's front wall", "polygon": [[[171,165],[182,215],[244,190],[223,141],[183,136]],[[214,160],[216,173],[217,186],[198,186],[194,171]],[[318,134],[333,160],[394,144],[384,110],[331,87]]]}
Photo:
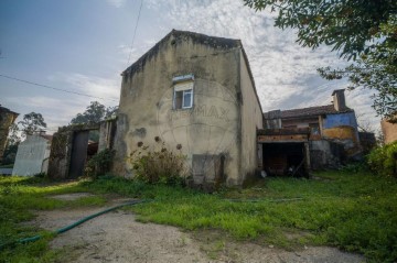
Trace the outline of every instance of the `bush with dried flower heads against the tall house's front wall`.
{"label": "bush with dried flower heads against the tall house's front wall", "polygon": [[[158,138],[154,139],[158,143]],[[184,183],[186,168],[185,156],[173,153],[164,146],[158,145],[150,151],[149,146],[138,143],[138,150],[130,154],[129,161],[135,172],[135,178],[149,184],[180,185]],[[180,150],[180,146],[176,147]]]}

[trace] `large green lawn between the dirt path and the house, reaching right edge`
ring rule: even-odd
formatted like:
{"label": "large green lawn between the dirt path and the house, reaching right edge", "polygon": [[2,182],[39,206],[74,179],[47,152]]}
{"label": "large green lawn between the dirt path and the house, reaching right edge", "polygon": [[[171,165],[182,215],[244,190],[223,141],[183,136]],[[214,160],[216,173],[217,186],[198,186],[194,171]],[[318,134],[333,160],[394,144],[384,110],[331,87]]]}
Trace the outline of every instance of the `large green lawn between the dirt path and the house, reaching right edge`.
{"label": "large green lawn between the dirt path and the house, reaching right edge", "polygon": [[394,178],[325,172],[313,179],[267,178],[247,189],[213,195],[122,178],[101,178],[89,187],[98,193],[154,198],[131,208],[142,222],[216,229],[236,240],[285,249],[334,245],[374,262],[397,260]]}

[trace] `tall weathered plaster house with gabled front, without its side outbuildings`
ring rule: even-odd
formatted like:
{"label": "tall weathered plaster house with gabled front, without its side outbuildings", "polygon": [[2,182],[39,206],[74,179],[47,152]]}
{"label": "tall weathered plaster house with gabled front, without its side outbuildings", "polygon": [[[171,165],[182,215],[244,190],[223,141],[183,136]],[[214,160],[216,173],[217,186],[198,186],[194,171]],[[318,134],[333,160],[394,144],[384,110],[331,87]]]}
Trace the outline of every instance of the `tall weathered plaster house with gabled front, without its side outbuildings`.
{"label": "tall weathered plaster house with gabled front, without its side outbuildings", "polygon": [[155,141],[186,156],[194,185],[257,172],[262,110],[239,40],[172,30],[121,76],[115,173],[133,176],[126,157]]}

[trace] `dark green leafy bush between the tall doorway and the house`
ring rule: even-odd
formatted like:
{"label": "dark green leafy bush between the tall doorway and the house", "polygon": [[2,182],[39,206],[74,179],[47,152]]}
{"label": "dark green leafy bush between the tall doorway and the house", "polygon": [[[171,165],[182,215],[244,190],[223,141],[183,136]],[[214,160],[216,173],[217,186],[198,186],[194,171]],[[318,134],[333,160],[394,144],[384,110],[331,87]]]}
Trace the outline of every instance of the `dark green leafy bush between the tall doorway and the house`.
{"label": "dark green leafy bush between the tall doorway and the house", "polygon": [[114,156],[115,151],[109,149],[105,149],[95,154],[86,164],[85,175],[96,178],[99,175],[108,173],[111,168]]}

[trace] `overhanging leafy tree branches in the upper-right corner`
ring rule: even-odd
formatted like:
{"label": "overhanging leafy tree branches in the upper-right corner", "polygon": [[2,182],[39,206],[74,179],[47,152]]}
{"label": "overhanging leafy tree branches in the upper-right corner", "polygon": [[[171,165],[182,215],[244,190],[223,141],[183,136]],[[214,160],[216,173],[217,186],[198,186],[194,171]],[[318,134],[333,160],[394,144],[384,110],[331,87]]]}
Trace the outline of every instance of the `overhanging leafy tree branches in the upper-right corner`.
{"label": "overhanging leafy tree branches in the upper-right corner", "polygon": [[375,89],[373,107],[377,113],[388,118],[396,114],[396,0],[244,1],[256,10],[277,11],[275,25],[297,29],[300,45],[330,45],[341,57],[353,59],[344,69],[320,68],[320,75],[326,79],[347,77],[350,89]]}

